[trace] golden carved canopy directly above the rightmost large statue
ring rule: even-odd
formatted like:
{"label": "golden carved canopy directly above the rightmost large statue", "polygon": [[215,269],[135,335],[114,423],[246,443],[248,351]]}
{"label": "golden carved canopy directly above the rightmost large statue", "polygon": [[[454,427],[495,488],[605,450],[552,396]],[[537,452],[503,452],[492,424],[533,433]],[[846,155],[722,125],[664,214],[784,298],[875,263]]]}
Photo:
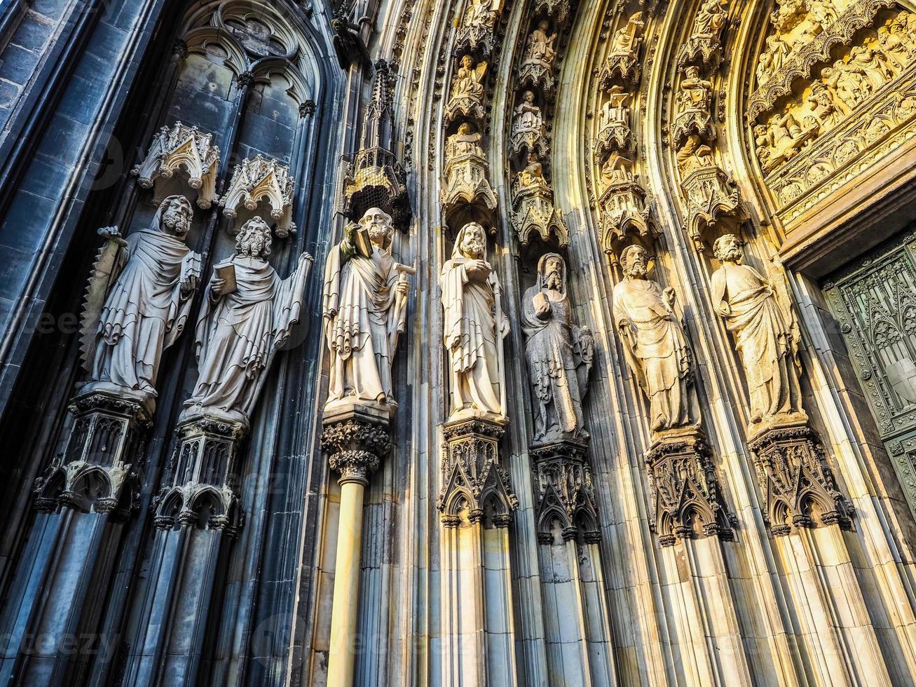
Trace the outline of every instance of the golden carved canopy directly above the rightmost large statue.
{"label": "golden carved canopy directly above the rightmost large statue", "polygon": [[684,231],[697,250],[706,248],[707,229],[726,217],[737,222],[747,219],[738,191],[728,175],[718,167],[695,169],[681,182],[687,204]]}

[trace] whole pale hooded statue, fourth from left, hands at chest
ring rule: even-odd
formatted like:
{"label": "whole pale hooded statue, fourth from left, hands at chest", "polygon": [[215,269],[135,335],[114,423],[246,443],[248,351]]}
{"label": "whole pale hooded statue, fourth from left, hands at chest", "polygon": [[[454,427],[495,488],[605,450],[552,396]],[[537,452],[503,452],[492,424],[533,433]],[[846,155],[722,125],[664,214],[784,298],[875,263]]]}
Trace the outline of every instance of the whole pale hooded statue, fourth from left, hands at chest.
{"label": "whole pale hooded statue, fourth from left, hands at chest", "polygon": [[496,271],[485,258],[484,227],[464,224],[442,267],[443,342],[449,354],[450,420],[505,418],[502,339],[509,322]]}

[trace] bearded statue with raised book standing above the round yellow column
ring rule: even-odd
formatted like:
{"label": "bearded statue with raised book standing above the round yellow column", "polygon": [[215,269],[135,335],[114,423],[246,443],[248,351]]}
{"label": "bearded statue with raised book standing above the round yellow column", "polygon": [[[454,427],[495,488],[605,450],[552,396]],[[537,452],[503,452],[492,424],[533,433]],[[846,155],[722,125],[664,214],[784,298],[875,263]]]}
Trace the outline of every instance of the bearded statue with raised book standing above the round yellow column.
{"label": "bearded statue with raised book standing above the round yellow column", "polygon": [[396,407],[391,364],[407,322],[412,269],[391,257],[392,234],[391,216],[371,208],[358,226],[347,226],[344,240],[328,256],[322,291],[331,357],[325,412],[353,404]]}

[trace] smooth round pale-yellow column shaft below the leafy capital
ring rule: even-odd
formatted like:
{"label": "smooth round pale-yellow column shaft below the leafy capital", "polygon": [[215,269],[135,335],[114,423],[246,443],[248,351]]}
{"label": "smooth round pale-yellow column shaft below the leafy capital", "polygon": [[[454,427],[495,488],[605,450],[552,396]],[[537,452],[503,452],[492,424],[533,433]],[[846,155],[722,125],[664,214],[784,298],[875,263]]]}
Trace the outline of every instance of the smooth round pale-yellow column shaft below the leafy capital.
{"label": "smooth round pale-yellow column shaft below the leafy capital", "polygon": [[334,565],[334,597],[331,611],[331,649],[328,687],[353,684],[356,659],[356,620],[359,600],[359,560],[363,543],[363,496],[365,483],[341,484],[337,562]]}

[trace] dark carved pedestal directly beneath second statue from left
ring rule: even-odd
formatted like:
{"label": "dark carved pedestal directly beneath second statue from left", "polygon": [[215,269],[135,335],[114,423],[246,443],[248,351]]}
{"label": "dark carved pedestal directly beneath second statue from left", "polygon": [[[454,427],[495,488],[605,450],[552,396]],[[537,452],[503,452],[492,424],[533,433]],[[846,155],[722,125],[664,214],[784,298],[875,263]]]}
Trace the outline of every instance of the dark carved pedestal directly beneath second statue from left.
{"label": "dark carved pedestal directly beneath second statue from left", "polygon": [[171,485],[156,496],[154,526],[214,529],[236,537],[245,520],[237,495],[245,426],[204,416],[181,422],[177,433]]}

